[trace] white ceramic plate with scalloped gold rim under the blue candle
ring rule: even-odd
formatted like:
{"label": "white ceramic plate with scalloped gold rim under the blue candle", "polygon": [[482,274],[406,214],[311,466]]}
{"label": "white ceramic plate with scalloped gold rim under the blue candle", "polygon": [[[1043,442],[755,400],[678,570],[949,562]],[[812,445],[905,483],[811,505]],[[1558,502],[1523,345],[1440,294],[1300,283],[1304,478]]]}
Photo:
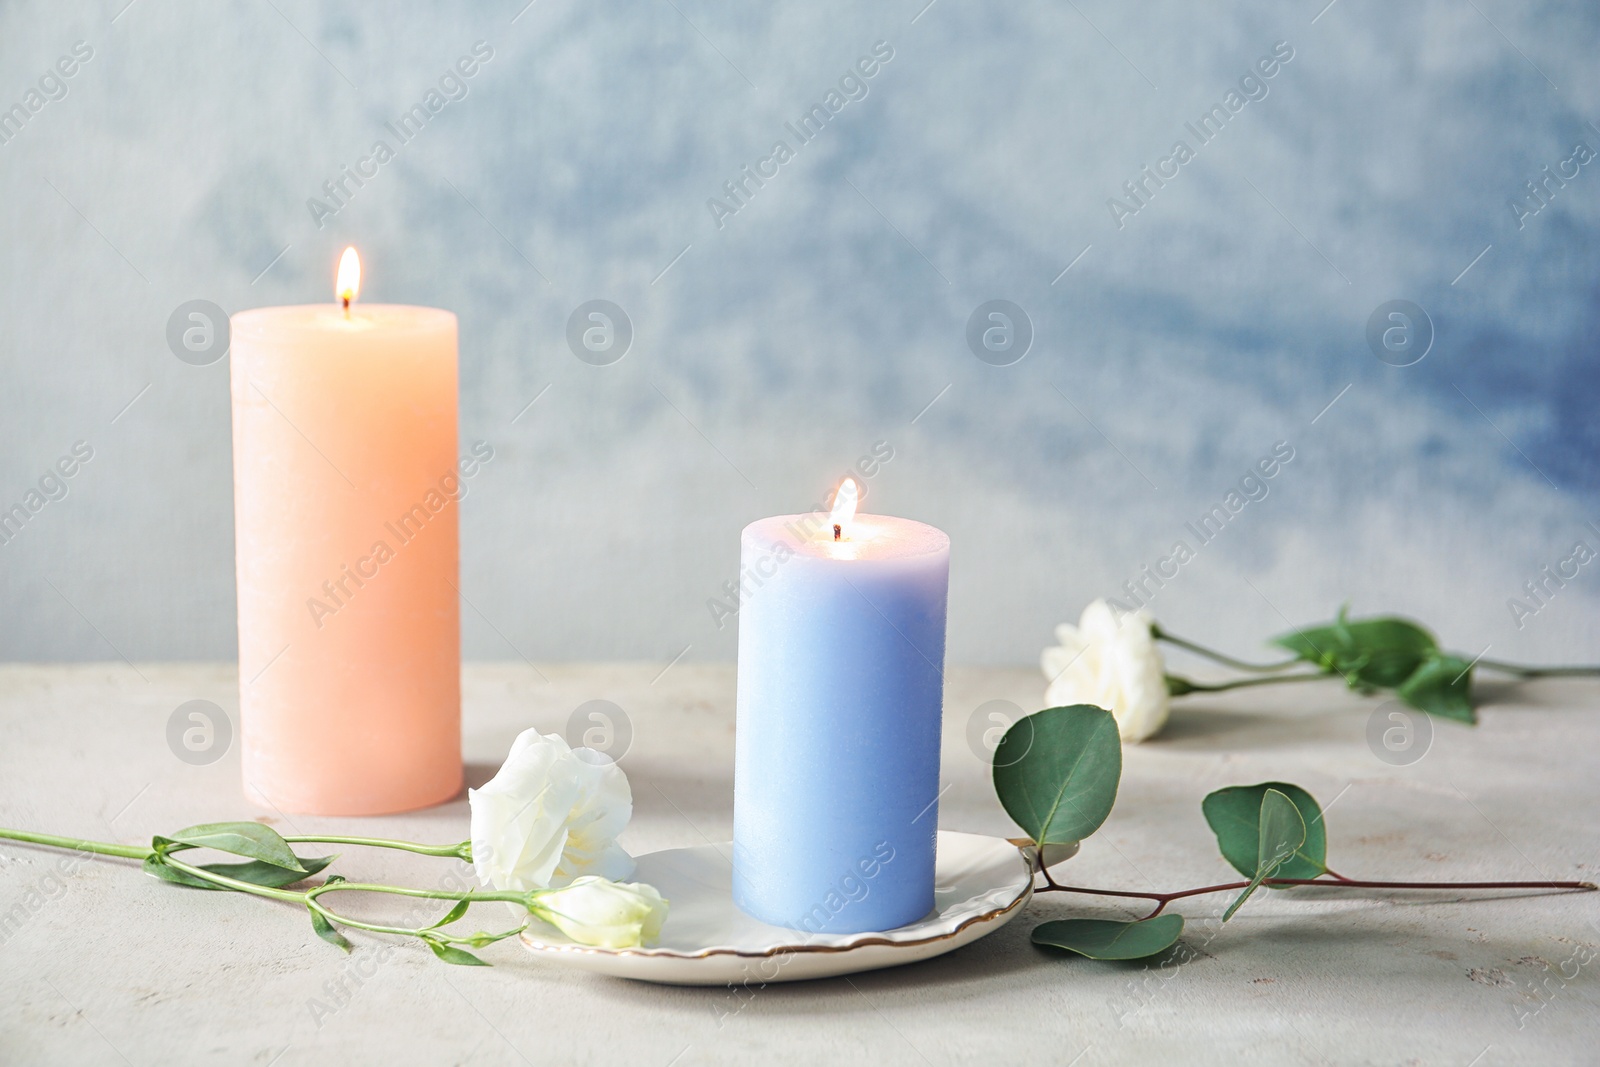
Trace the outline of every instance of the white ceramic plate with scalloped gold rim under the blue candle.
{"label": "white ceramic plate with scalloped gold rim under the blue candle", "polygon": [[1011,841],[939,830],[933,912],[925,918],[880,933],[806,934],[734,907],[731,854],[731,845],[701,845],[638,857],[634,881],[656,886],[670,902],[656,945],[594,949],[544,923],[525,931],[522,942],[557,963],[646,982],[795,982],[944,955],[1005,926],[1034,893],[1029,861]]}

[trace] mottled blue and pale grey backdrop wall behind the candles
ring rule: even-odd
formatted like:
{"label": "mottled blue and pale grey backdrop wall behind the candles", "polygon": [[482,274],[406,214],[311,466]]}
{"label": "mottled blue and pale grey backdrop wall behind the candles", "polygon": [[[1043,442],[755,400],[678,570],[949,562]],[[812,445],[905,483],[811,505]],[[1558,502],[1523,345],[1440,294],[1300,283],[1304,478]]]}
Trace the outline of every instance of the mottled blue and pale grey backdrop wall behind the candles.
{"label": "mottled blue and pale grey backdrop wall behind the candles", "polygon": [[[346,243],[368,299],[461,317],[462,446],[496,451],[469,657],[731,657],[706,601],[739,528],[875,442],[870,506],[950,534],[952,661],[1032,661],[1278,442],[1158,590],[1171,627],[1248,651],[1350,598],[1469,654],[1595,656],[1600,563],[1507,608],[1600,549],[1600,162],[1510,208],[1600,150],[1594,10],[123,3],[0,8],[0,106],[94,50],[0,144],[0,506],[94,448],[0,545],[0,657],[234,654],[227,365],[166,320],[326,299]],[[318,227],[307,198],[478,40],[469,94]],[[877,42],[867,96],[718,227]],[[1277,42],[1267,96],[1118,227]],[[611,366],[565,339],[595,298],[635,330]],[[1013,366],[968,350],[989,299],[1034,323]],[[1432,318],[1413,366],[1366,344],[1390,299]]]}

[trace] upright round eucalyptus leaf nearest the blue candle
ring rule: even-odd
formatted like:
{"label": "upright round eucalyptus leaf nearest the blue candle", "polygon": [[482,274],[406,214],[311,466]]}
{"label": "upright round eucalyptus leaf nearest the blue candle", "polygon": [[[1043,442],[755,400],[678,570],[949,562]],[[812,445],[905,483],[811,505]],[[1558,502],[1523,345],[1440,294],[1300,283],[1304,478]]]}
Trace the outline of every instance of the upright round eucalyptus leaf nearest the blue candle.
{"label": "upright round eucalyptus leaf nearest the blue candle", "polygon": [[1090,704],[1019,718],[994,755],[1000,805],[1035,843],[1080,841],[1106,822],[1122,777],[1110,712]]}

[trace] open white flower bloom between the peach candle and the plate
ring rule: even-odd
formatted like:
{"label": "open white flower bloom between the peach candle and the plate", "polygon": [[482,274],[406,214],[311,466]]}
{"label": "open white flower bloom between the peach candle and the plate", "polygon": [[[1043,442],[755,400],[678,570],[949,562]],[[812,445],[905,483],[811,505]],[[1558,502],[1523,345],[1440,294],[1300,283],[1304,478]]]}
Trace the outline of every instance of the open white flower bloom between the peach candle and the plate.
{"label": "open white flower bloom between the peach candle and the plate", "polygon": [[634,792],[611,757],[526,729],[499,773],[467,790],[472,865],[496,889],[544,889],[582,875],[627,878],[634,857],[616,843]]}

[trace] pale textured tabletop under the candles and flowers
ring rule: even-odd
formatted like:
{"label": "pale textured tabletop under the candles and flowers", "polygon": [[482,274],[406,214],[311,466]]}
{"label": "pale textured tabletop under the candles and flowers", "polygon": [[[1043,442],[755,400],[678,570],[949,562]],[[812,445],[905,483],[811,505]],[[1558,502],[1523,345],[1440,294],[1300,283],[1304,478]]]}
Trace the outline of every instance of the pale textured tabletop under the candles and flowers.
{"label": "pale textured tabletop under the candles and flowers", "polygon": [[[470,784],[526,726],[563,731],[614,701],[634,853],[731,837],[733,670],[677,664],[469,665]],[[659,675],[659,677],[658,677]],[[232,665],[0,667],[0,824],[147,843],[200,821],[283,832],[454,841],[459,798],[384,819],[251,809],[234,750],[192,766],[166,721],[189,699],[237,710]],[[1366,742],[1378,705],[1338,685],[1181,704],[1130,749],[1106,827],[1058,869],[1107,888],[1232,877],[1200,814],[1221,785],[1286,779],[1328,808],[1330,862],[1366,878],[1600,875],[1600,709],[1584,681],[1485,688],[1483,725],[1438,725],[1408,766]],[[986,701],[1032,710],[1030,670],[952,669],[939,821],[1010,835],[966,741]],[[358,758],[358,753],[352,753]],[[1259,894],[1226,928],[1226,897],[1184,901],[1187,961],[1048,955],[1029,929],[1064,915],[1131,917],[1091,897],[1035,901],[955,953],[851,979],[752,990],[670,989],[536,961],[515,942],[488,968],[416,944],[379,958],[318,941],[290,905],[184,891],[126,861],[67,864],[0,841],[0,1062],[5,1064],[1565,1064],[1600,1059],[1600,894]],[[347,875],[435,881],[443,861],[346,849]],[[426,881],[424,881],[426,880]],[[1074,1059],[1077,1057],[1077,1059]]]}

